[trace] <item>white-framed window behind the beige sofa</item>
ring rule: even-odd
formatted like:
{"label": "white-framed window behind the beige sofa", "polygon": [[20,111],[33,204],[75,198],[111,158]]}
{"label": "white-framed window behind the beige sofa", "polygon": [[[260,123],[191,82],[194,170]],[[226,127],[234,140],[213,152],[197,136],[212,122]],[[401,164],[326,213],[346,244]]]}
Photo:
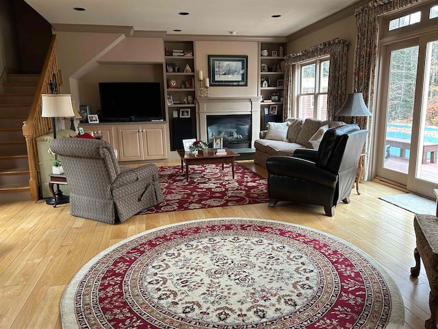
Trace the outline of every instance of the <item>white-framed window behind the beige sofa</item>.
{"label": "white-framed window behind the beige sofa", "polygon": [[328,57],[296,64],[296,115],[300,118],[327,119],[329,91]]}

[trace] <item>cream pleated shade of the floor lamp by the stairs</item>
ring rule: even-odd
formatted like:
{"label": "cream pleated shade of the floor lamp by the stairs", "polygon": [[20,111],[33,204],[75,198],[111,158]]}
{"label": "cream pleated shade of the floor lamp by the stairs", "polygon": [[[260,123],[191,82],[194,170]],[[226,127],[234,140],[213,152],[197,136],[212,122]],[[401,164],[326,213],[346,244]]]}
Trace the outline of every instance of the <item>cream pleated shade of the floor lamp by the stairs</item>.
{"label": "cream pleated shade of the floor lamp by the stairs", "polygon": [[46,118],[74,118],[75,112],[71,103],[71,95],[44,94],[42,99],[41,117]]}

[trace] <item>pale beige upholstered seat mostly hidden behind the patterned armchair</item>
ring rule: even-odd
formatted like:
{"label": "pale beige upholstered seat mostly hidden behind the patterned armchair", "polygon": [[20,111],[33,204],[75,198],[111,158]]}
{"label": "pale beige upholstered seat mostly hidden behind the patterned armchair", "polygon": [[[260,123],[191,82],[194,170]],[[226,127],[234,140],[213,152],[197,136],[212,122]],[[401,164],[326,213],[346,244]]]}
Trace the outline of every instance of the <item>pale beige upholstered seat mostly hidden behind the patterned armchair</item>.
{"label": "pale beige upholstered seat mostly hidden behind the patterned armchair", "polygon": [[[70,136],[76,136],[76,132],[69,129],[57,130],[56,138],[65,138]],[[53,139],[53,132],[38,136],[36,138],[36,149],[38,151],[38,160],[40,161],[40,197],[51,197],[49,190],[49,175],[52,173],[53,158],[49,154],[50,142]],[[61,191],[64,195],[69,195],[70,190],[68,185],[60,185]]]}

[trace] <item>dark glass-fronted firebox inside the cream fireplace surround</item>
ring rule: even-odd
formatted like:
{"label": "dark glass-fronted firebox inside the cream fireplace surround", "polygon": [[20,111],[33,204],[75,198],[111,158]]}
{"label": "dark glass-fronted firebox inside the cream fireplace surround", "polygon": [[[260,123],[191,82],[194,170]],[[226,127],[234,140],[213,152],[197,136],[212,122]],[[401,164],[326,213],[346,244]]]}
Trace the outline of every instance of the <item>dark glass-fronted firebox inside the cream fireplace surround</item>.
{"label": "dark glass-fronted firebox inside the cream fireplace surround", "polygon": [[213,147],[213,138],[222,138],[222,147],[229,149],[249,148],[251,145],[251,115],[208,115],[207,135],[209,147]]}

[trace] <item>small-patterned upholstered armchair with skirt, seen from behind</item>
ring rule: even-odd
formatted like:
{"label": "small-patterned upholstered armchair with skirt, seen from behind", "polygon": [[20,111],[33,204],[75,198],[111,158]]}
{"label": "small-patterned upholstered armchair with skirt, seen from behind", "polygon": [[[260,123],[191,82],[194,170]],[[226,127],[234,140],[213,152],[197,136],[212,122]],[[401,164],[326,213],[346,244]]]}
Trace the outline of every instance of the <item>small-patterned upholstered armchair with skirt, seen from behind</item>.
{"label": "small-patterned upholstered armchair with skirt, seen from behind", "polygon": [[163,201],[155,164],[119,167],[111,145],[86,138],[50,143],[70,186],[70,214],[114,224]]}

